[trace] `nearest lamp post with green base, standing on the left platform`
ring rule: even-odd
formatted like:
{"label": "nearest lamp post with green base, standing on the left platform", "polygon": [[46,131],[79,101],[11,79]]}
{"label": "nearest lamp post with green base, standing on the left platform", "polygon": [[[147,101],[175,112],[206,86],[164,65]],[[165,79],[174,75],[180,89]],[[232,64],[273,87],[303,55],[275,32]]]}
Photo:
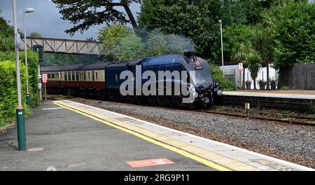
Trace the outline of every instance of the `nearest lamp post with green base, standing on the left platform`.
{"label": "nearest lamp post with green base, standing on the left platform", "polygon": [[16,121],[18,128],[18,150],[26,150],[25,136],[25,112],[22,107],[21,99],[21,80],[20,80],[20,61],[19,61],[19,46],[18,46],[18,22],[16,20],[16,1],[12,0],[13,6],[13,25],[14,25],[14,41],[15,41],[15,63],[16,63],[16,82],[18,89],[18,107],[16,108]]}

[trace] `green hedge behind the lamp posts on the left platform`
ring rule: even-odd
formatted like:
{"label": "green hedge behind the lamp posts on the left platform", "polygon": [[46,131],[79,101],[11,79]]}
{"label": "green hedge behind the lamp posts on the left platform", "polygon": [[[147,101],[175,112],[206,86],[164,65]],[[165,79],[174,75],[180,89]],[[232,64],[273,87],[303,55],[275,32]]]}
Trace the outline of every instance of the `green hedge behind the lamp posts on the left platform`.
{"label": "green hedge behind the lamp posts on the left platform", "polygon": [[[31,105],[32,107],[37,107],[40,105],[38,95],[38,54],[27,51],[27,58]],[[31,109],[29,109],[26,104],[26,68],[24,51],[20,51],[20,61],[22,105],[25,109],[25,115],[29,116],[31,114]],[[2,127],[15,121],[15,108],[18,106],[14,52],[0,52],[0,96],[0,127]]]}

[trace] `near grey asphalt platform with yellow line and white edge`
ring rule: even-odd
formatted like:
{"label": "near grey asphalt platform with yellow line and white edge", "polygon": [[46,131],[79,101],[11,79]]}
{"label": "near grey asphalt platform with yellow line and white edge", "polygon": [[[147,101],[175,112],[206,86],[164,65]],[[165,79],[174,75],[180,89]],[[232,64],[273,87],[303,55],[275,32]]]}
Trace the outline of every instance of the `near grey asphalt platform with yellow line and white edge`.
{"label": "near grey asphalt platform with yellow line and white edge", "polygon": [[15,128],[0,134],[0,170],[313,170],[69,100],[26,123],[27,151]]}

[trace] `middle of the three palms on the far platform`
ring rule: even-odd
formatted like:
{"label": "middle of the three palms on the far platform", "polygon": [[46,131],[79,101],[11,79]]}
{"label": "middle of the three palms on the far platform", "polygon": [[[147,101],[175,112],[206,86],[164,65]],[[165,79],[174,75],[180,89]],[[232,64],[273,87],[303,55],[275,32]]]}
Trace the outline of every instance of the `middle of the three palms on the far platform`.
{"label": "middle of the three palms on the far platform", "polygon": [[253,78],[254,89],[256,89],[256,78],[262,68],[261,58],[258,53],[249,53],[246,60],[248,62],[248,70],[251,72],[251,78]]}

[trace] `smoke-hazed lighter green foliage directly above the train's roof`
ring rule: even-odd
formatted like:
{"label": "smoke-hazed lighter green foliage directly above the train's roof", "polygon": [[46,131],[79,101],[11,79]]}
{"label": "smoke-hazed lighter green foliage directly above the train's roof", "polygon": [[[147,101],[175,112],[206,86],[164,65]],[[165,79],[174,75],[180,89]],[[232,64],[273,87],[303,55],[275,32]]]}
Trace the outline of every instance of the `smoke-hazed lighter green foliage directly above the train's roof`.
{"label": "smoke-hazed lighter green foliage directly above the train's roof", "polygon": [[103,43],[104,54],[113,60],[130,60],[193,50],[193,44],[183,36],[162,34],[158,29],[142,29],[135,34],[123,25],[102,29],[99,32],[99,40]]}

